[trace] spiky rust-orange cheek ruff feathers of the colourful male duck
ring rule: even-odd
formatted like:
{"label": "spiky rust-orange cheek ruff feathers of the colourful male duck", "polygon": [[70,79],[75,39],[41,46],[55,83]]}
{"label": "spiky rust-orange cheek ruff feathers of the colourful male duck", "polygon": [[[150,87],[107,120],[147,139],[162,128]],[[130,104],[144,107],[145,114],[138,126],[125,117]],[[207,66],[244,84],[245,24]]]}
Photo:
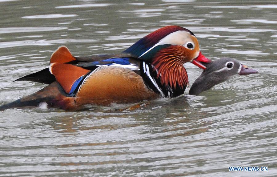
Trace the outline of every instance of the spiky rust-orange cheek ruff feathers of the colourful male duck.
{"label": "spiky rust-orange cheek ruff feathers of the colourful male duck", "polygon": [[161,84],[182,89],[188,84],[187,71],[183,64],[189,62],[188,55],[183,46],[170,46],[160,50],[153,58],[153,65],[158,69],[157,77],[160,76]]}

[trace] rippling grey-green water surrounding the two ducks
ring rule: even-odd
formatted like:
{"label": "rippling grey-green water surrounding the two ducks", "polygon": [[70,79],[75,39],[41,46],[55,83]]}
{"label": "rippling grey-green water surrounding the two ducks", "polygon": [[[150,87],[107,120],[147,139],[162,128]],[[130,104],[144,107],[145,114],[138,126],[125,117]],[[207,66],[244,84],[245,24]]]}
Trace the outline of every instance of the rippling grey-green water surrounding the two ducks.
{"label": "rippling grey-green water surrounding the two ducks", "polygon": [[[172,24],[193,31],[208,58],[236,58],[260,71],[199,96],[133,111],[3,111],[0,176],[277,173],[275,2],[0,0],[0,5],[1,104],[43,88],[12,81],[44,69],[60,45],[74,56],[116,54]],[[185,67],[192,84],[201,70],[191,63]],[[229,172],[228,166],[268,166],[269,171]]]}

